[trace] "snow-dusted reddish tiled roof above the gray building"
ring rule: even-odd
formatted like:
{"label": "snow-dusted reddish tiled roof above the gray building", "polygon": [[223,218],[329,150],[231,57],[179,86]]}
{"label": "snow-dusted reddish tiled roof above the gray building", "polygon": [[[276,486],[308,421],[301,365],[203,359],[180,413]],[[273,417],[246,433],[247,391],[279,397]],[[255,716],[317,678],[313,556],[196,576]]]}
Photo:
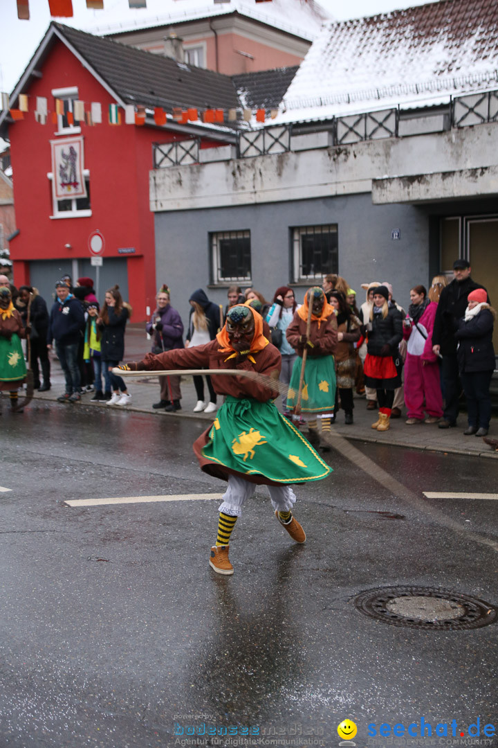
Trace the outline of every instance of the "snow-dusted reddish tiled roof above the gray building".
{"label": "snow-dusted reddish tiled roof above the gray building", "polygon": [[441,0],[329,22],[290,83],[278,122],[448,101],[492,88],[497,68],[497,0]]}

